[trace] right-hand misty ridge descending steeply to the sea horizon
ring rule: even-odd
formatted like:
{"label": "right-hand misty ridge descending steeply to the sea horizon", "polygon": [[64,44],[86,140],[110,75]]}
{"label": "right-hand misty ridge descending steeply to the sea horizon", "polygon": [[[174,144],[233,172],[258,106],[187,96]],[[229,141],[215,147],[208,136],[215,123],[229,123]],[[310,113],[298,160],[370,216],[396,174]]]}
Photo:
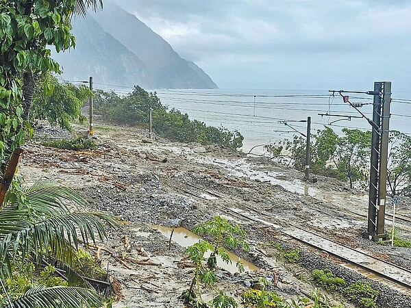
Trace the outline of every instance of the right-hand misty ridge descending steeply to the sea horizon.
{"label": "right-hand misty ridge descending steeply to the sea horizon", "polygon": [[145,62],[156,88],[217,88],[201,68],[182,59],[168,42],[119,5],[107,1],[104,10],[93,16],[104,31]]}

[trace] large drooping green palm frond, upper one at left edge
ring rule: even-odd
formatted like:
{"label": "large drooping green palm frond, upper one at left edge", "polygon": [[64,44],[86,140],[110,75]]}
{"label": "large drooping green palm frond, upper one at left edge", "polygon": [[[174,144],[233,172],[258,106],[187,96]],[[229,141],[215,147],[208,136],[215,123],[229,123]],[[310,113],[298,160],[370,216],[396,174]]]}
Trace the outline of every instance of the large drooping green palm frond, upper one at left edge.
{"label": "large drooping green palm frond, upper one at left edge", "polygon": [[[1,222],[0,211],[0,261],[13,258],[19,252],[41,256],[51,253],[66,264],[73,264],[73,249],[78,246],[78,234],[83,242],[97,242],[106,238],[105,223],[119,224],[108,214],[74,212],[59,216],[36,216],[36,220]],[[77,233],[78,232],[78,233]],[[11,256],[8,256],[11,254]],[[73,255],[74,254],[74,255]]]}

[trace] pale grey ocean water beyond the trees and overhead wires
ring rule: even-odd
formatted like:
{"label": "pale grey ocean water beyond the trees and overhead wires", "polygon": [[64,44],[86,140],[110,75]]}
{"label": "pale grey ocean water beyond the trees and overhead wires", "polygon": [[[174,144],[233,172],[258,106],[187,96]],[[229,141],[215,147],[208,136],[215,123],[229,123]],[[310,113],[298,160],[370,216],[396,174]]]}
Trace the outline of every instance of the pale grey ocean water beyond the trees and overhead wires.
{"label": "pale grey ocean water beyond the trees and overhead wires", "polygon": [[[264,144],[295,134],[306,133],[308,116],[312,120],[312,133],[325,125],[340,132],[349,129],[369,129],[371,125],[343,98],[330,96],[327,90],[155,90],[164,105],[188,114],[190,119],[207,125],[223,126],[240,131],[245,140],[242,151],[253,149],[262,153]],[[393,92],[390,129],[411,134],[411,92]],[[372,118],[372,96],[352,94],[351,103],[361,102],[363,114]],[[321,116],[333,114],[339,116]],[[349,118],[351,116],[351,118]],[[287,123],[285,125],[284,123]]]}

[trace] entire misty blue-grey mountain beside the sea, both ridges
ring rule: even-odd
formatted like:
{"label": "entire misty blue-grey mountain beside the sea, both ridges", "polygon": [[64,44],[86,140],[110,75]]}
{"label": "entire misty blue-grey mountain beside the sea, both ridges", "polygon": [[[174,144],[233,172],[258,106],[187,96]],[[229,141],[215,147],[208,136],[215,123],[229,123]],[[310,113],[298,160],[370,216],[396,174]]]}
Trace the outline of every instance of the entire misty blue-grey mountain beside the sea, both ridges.
{"label": "entire misty blue-grey mountain beside the sea, both ridges", "polygon": [[194,62],[119,5],[73,21],[75,50],[55,53],[67,80],[143,88],[218,88]]}

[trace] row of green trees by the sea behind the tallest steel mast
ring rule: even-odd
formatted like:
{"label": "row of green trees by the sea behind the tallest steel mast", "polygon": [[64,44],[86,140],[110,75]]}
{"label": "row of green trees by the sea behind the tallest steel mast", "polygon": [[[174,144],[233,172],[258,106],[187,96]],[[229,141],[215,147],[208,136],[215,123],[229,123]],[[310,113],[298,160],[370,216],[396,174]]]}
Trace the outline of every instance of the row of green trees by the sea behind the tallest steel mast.
{"label": "row of green trees by the sea behind the tallest steel mast", "polygon": [[[331,127],[312,134],[310,170],[318,175],[347,181],[350,188],[369,183],[371,131],[342,129],[338,135]],[[390,131],[388,153],[388,190],[395,194],[411,195],[411,136]],[[298,170],[306,166],[306,140],[295,136],[292,141],[280,140],[266,146],[272,155],[288,151]]]}

